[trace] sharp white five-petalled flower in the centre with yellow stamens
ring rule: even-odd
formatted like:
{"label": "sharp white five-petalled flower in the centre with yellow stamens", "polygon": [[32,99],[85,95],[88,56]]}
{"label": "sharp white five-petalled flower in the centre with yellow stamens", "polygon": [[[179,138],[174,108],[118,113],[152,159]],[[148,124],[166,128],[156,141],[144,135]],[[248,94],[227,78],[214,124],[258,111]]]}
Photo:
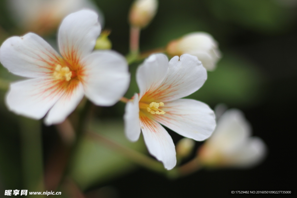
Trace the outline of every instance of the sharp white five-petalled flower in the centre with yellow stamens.
{"label": "sharp white five-petalled flower in the centre with yellow stamens", "polygon": [[207,104],[180,99],[197,91],[206,78],[201,62],[188,54],[169,62],[164,54],[151,55],[137,70],[140,94],[127,102],[125,133],[136,141],[141,129],[149,152],[168,170],[176,165],[176,151],[161,124],[197,141],[208,138],[215,128],[215,115]]}

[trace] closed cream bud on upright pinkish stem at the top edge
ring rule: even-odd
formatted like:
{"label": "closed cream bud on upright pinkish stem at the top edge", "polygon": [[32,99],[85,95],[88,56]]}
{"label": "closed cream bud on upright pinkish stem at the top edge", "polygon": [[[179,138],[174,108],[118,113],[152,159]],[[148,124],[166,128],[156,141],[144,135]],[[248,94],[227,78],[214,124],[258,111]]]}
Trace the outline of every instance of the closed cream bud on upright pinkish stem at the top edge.
{"label": "closed cream bud on upright pinkish stem at the top edge", "polygon": [[135,27],[144,28],[156,15],[157,8],[157,0],[134,1],[129,13],[130,24]]}

